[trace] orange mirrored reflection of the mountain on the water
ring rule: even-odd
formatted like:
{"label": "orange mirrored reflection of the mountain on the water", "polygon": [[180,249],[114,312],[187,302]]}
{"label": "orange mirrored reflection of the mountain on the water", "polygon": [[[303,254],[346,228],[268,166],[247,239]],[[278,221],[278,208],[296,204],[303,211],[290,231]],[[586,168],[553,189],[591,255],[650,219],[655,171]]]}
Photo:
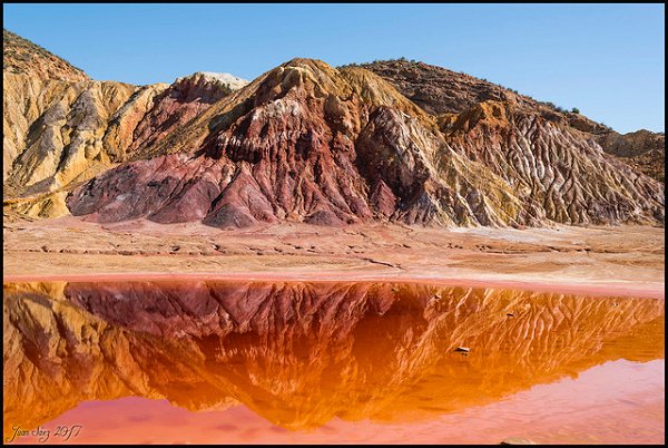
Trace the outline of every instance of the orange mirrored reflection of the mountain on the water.
{"label": "orange mirrored reflection of the mountain on the water", "polygon": [[334,417],[421,419],[608,360],[664,358],[664,301],[648,299],[371,283],[22,283],[4,285],[3,308],[6,431],[126,396],[190,410],[240,402],[291,429]]}

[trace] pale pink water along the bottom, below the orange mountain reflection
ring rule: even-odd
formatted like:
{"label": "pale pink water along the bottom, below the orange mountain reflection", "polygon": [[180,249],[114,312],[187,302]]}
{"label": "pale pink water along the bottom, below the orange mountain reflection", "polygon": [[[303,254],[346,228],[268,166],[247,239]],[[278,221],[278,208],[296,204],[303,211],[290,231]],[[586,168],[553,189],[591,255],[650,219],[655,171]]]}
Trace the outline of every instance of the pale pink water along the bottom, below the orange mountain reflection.
{"label": "pale pink water along the bottom, below the orange mountain reflection", "polygon": [[664,444],[664,360],[619,360],[428,421],[335,418],[315,430],[291,431],[244,406],[189,412],[167,400],[132,397],[81,403],[43,428],[81,425],[73,444],[499,444],[510,436],[539,444]]}

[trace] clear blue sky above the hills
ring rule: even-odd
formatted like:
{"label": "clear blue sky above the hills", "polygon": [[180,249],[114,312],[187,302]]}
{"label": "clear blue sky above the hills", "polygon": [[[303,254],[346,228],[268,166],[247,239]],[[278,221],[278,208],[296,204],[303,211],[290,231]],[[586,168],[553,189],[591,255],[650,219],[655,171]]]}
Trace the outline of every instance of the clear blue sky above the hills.
{"label": "clear blue sky above the hills", "polygon": [[406,57],[626,133],[664,130],[664,4],[4,4],[4,27],[95,79],[253,79],[294,57]]}

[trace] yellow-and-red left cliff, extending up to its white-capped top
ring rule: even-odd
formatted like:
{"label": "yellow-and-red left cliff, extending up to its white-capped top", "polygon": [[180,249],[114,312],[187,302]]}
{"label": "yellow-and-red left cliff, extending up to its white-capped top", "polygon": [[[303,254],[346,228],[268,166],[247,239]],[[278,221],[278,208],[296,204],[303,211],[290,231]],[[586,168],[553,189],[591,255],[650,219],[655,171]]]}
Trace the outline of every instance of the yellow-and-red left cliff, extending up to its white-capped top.
{"label": "yellow-and-red left cliff, extending up to its white-capped top", "polygon": [[6,72],[4,85],[4,201],[37,217],[69,214],[71,188],[138,157],[238,87],[202,74],[136,87]]}

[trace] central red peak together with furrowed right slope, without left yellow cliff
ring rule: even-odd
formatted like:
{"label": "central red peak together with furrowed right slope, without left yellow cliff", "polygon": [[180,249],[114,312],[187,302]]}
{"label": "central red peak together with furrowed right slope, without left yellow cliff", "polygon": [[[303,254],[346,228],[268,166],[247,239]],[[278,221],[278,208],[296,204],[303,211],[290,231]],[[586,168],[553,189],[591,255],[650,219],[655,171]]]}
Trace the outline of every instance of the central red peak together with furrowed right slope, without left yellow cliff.
{"label": "central red peak together with furrowed right slope, without left yellow cliff", "polygon": [[67,202],[98,222],[218,227],[664,222],[659,183],[539,114],[488,101],[440,121],[366,70],[295,59],[173,132],[163,146],[181,154],[121,165]]}

